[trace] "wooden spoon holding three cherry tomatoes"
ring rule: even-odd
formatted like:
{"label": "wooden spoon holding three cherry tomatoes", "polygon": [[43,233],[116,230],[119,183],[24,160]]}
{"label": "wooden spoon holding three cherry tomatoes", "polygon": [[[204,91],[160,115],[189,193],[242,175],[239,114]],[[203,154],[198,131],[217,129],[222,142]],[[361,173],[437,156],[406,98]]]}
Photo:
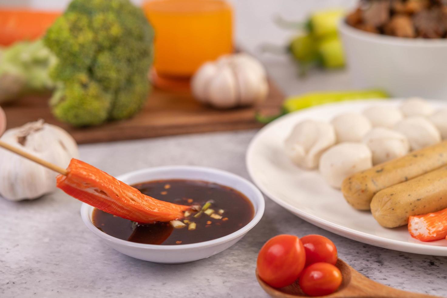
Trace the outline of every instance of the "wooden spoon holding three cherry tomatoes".
{"label": "wooden spoon holding three cherry tomatoes", "polygon": [[[356,271],[341,259],[337,260],[336,266],[342,272],[343,281],[340,288],[333,294],[320,296],[320,297],[343,297],[343,298],[372,298],[372,297],[398,297],[398,298],[422,298],[422,297],[435,297],[426,294],[417,294],[412,292],[406,292],[398,289],[393,289],[386,285],[382,285],[378,282],[371,281],[363,274]],[[307,297],[306,294],[299,288],[298,282],[287,287],[276,289],[267,285],[259,277],[256,270],[256,278],[262,289],[264,289],[271,297],[274,298],[297,298]]]}

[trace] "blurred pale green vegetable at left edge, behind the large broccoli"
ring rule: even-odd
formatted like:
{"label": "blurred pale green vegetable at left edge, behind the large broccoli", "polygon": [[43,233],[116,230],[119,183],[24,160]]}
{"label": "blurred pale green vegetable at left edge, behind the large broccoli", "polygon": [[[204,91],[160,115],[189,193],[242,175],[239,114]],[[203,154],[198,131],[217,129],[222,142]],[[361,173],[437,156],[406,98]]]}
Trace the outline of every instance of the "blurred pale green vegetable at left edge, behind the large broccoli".
{"label": "blurred pale green vegetable at left edge, behind the large broccoli", "polygon": [[0,103],[52,89],[48,68],[54,62],[55,57],[42,40],[22,41],[4,48],[0,52]]}

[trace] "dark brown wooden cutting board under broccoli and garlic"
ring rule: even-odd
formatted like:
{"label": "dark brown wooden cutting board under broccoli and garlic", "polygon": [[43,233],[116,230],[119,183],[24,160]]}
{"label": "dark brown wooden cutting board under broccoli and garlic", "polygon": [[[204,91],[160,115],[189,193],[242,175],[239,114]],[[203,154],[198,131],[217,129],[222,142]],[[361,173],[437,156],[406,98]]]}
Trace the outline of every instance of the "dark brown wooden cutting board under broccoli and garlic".
{"label": "dark brown wooden cutting board under broccoli and garlic", "polygon": [[111,142],[152,138],[174,134],[245,130],[261,127],[254,119],[256,111],[272,115],[279,111],[284,95],[273,82],[266,102],[258,107],[217,110],[199,104],[189,92],[154,89],[147,104],[135,117],[100,126],[75,128],[53,117],[48,107],[50,95],[26,96],[3,107],[8,128],[44,119],[67,130],[78,143]]}

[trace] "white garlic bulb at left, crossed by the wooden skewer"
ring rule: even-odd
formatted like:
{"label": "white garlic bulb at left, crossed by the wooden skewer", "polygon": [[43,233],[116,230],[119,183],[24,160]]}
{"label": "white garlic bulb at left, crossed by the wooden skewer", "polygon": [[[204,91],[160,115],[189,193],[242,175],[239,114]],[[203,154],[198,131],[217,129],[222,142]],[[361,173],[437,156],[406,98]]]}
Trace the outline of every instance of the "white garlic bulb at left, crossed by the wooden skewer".
{"label": "white garlic bulb at left, crossed by the wooden skewer", "polygon": [[[62,168],[72,158],[79,158],[72,136],[42,120],[7,130],[0,140]],[[37,199],[56,189],[57,173],[3,148],[0,148],[0,167],[0,197],[5,199]]]}

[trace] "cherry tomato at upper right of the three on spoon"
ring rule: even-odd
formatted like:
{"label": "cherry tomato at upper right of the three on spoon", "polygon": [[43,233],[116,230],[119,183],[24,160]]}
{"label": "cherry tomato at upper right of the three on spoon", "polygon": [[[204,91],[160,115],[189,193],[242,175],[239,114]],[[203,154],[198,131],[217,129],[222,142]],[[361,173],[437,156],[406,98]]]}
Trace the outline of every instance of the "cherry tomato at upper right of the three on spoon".
{"label": "cherry tomato at upper right of the three on spoon", "polygon": [[301,238],[306,250],[306,267],[318,262],[335,265],[337,263],[337,247],[328,238],[321,235],[307,235]]}

